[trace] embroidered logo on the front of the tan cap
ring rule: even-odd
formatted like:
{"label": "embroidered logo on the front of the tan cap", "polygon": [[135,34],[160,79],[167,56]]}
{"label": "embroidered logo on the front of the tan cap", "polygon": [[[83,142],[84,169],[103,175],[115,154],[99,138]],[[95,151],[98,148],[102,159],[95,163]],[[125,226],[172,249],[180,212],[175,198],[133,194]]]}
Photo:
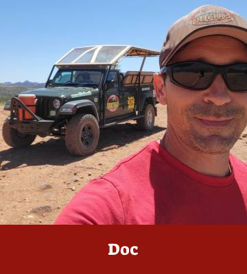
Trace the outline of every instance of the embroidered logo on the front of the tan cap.
{"label": "embroidered logo on the front of the tan cap", "polygon": [[228,23],[231,21],[234,21],[234,18],[227,10],[206,6],[196,12],[196,14],[193,14],[189,23],[191,25],[211,25]]}

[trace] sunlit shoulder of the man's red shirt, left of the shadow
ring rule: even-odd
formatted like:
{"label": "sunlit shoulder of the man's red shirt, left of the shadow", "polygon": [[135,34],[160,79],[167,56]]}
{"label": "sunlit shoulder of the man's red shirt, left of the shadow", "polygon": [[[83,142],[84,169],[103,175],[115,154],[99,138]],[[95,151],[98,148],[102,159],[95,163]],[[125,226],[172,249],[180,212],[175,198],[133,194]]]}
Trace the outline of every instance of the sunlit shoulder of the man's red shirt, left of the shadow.
{"label": "sunlit shoulder of the man's red shirt, left of the shadow", "polygon": [[149,166],[158,146],[158,142],[150,142],[89,182],[73,197],[56,223],[119,225],[126,223],[126,218],[128,223],[137,223],[141,212],[137,201],[150,204],[154,197]]}

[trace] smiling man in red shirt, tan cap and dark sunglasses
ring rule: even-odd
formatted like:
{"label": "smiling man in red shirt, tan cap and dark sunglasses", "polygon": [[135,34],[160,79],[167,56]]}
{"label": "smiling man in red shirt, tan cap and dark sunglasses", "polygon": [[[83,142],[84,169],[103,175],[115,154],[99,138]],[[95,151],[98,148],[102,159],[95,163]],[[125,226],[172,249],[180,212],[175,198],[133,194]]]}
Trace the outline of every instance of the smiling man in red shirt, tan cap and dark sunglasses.
{"label": "smiling man in red shirt, tan cap and dark sunglasses", "polygon": [[161,142],[87,184],[57,224],[246,224],[247,166],[229,153],[247,125],[247,23],[202,6],[169,29],[154,75]]}

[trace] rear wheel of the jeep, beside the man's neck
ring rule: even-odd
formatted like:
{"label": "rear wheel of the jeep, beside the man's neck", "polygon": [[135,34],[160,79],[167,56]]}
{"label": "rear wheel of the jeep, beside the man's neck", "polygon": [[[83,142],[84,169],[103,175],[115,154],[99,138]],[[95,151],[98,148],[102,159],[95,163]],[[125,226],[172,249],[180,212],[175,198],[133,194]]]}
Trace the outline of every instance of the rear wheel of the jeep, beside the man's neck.
{"label": "rear wheel of the jeep, beside the man's neck", "polygon": [[145,104],[143,114],[143,118],[137,119],[137,129],[150,131],[154,128],[154,106],[148,103]]}

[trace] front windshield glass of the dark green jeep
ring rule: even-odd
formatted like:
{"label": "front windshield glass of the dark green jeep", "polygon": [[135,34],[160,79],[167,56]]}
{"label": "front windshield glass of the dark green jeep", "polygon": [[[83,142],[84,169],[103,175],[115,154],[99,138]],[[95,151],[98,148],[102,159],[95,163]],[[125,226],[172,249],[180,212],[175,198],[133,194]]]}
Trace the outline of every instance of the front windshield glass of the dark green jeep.
{"label": "front windshield glass of the dark green jeep", "polygon": [[51,86],[99,86],[102,79],[101,70],[95,69],[62,69],[59,70]]}

